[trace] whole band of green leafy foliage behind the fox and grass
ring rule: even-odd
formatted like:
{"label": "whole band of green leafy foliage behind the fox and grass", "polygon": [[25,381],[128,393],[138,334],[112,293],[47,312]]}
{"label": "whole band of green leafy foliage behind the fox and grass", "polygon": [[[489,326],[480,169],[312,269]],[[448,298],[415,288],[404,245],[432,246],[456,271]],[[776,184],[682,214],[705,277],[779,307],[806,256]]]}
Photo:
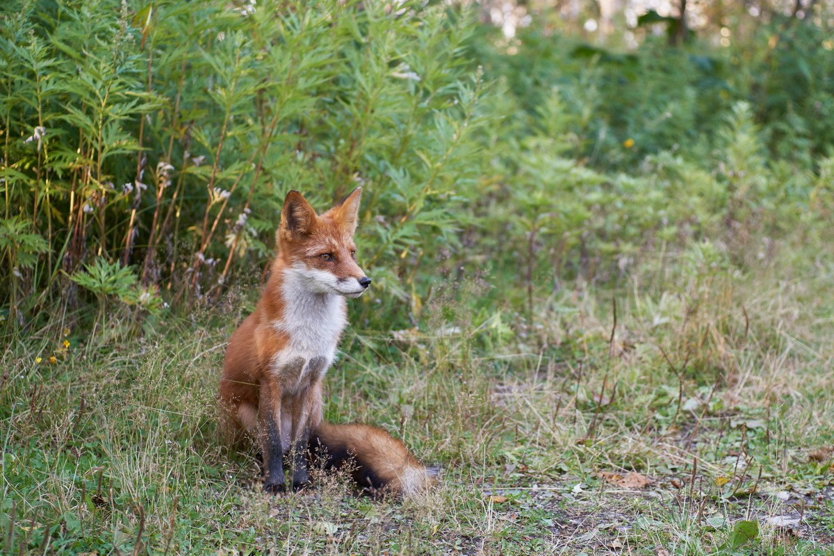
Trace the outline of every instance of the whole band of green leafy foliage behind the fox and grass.
{"label": "whole band of green leafy foliage behind the fox and grass", "polygon": [[[257,283],[290,188],[326,208],[364,185],[372,328],[418,322],[460,268],[521,278],[530,302],[661,247],[744,258],[830,216],[824,23],[617,53],[544,17],[510,44],[419,3],[11,2],[2,21],[13,326],[56,309],[88,326],[116,299],[149,331]],[[135,279],[98,288],[98,259]]]}

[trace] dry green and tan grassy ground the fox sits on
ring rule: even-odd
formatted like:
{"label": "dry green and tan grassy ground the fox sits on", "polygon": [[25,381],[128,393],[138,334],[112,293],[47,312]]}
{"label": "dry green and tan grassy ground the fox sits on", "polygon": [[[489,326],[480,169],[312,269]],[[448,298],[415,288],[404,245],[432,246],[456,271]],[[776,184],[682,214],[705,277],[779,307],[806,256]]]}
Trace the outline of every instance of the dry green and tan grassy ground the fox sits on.
{"label": "dry green and tan grassy ground the fox sits on", "polygon": [[379,424],[442,465],[435,490],[404,501],[339,477],[272,498],[254,454],[219,442],[224,342],[249,298],[153,338],[114,339],[118,314],[100,338],[59,323],[14,338],[0,550],[831,553],[831,253],[785,246],[741,270],[708,249],[617,288],[539,292],[532,323],[525,292],[479,303],[496,278],[452,284],[420,328],[351,330],[328,418]]}

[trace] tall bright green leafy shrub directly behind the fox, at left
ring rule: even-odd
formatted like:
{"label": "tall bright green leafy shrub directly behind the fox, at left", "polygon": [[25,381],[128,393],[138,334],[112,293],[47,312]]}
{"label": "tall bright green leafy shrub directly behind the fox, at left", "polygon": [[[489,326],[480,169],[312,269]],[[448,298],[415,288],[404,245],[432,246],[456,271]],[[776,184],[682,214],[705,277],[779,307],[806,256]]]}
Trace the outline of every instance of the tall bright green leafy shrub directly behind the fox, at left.
{"label": "tall bright green leafy shrub directly behind the fox, at left", "polygon": [[32,276],[4,279],[0,303],[38,290],[24,313],[60,295],[78,306],[60,271],[98,258],[178,306],[216,298],[258,276],[289,189],[326,208],[366,184],[360,258],[385,298],[416,299],[430,240],[454,243],[456,188],[489,120],[464,14],[173,0],[3,12],[4,212],[49,249],[7,248],[34,257]]}

